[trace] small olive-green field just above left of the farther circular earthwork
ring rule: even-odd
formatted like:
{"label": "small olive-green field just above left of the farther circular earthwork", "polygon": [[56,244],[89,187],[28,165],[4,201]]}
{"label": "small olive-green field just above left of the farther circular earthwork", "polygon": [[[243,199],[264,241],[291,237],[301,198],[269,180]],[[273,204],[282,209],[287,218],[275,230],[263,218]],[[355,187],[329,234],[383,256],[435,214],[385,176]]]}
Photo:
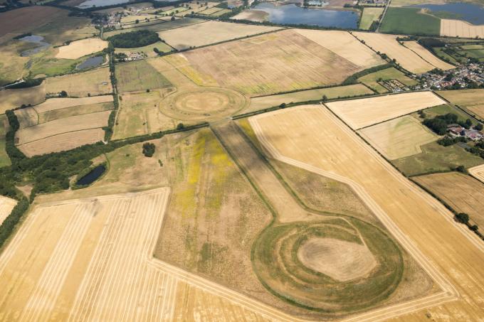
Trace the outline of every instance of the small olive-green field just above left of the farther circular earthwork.
{"label": "small olive-green field just above left of the farther circular earthwork", "polygon": [[116,79],[120,92],[136,92],[170,87],[172,84],[144,60],[116,66]]}

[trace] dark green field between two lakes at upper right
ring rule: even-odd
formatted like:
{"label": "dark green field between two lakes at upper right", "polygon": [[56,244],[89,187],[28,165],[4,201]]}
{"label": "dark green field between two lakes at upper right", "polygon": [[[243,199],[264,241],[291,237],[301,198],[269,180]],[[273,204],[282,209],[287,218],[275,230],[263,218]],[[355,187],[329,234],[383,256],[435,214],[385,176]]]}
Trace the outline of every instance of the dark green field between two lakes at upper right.
{"label": "dark green field between two lakes at upper right", "polygon": [[382,33],[403,33],[407,35],[439,35],[441,20],[428,14],[419,14],[418,8],[390,7],[382,21]]}

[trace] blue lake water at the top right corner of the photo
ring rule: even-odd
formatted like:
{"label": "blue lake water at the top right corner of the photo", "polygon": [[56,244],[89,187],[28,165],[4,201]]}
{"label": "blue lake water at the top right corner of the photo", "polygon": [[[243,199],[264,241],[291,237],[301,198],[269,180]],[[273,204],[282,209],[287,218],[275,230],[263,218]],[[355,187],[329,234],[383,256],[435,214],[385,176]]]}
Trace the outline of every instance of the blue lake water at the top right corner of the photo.
{"label": "blue lake water at the top right corner of the photo", "polygon": [[484,6],[478,4],[456,2],[451,4],[419,4],[413,7],[428,9],[441,18],[457,18],[474,25],[484,25]]}

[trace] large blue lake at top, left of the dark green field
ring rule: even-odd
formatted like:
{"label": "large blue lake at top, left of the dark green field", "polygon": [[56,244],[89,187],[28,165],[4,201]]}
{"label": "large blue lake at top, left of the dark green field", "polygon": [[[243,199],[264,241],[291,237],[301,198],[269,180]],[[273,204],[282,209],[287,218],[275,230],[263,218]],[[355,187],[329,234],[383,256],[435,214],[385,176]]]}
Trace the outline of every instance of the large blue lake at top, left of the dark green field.
{"label": "large blue lake at top, left of the dark green field", "polygon": [[354,11],[304,9],[295,4],[274,6],[268,3],[258,4],[254,9],[267,12],[268,21],[280,24],[357,28],[358,23],[358,14]]}

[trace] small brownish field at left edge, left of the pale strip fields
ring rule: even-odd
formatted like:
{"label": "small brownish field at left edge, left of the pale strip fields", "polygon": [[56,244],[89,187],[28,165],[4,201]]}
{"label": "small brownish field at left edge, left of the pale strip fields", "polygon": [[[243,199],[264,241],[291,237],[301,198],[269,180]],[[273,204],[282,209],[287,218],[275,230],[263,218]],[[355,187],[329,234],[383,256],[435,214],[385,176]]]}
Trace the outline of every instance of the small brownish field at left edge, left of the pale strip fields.
{"label": "small brownish field at left edge, left of the pale strip fields", "polygon": [[36,87],[15,90],[0,90],[0,114],[7,109],[21,107],[22,104],[39,104],[46,100],[46,82]]}

